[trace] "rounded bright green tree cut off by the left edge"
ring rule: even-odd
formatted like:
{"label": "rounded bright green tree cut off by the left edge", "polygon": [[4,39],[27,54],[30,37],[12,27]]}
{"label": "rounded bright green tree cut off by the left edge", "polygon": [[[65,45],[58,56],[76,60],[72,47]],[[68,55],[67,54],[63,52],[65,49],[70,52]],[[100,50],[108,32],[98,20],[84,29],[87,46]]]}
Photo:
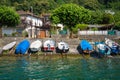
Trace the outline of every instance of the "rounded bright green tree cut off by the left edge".
{"label": "rounded bright green tree cut off by the left edge", "polygon": [[18,25],[19,23],[20,17],[15,10],[6,6],[0,6],[0,29],[2,26],[12,27]]}

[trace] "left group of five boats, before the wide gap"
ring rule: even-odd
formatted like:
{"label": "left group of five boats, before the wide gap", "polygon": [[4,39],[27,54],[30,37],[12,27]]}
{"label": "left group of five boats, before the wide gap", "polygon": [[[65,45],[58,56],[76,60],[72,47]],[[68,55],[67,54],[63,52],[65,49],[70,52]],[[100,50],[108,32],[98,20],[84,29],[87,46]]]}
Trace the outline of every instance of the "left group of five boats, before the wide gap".
{"label": "left group of five boats, before the wide gap", "polygon": [[[16,41],[13,41],[7,45],[5,45],[2,50],[11,50],[14,46],[16,45]],[[42,43],[41,40],[35,40],[30,43],[29,40],[25,39],[19,42],[15,46],[15,54],[27,54],[27,53],[35,53],[38,51],[43,51],[43,52],[53,52],[56,49],[56,44],[54,40],[46,40],[44,43]],[[69,51],[69,45],[61,41],[57,44],[57,48],[63,53]]]}

